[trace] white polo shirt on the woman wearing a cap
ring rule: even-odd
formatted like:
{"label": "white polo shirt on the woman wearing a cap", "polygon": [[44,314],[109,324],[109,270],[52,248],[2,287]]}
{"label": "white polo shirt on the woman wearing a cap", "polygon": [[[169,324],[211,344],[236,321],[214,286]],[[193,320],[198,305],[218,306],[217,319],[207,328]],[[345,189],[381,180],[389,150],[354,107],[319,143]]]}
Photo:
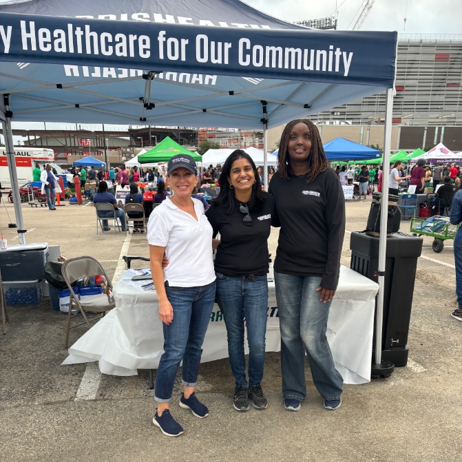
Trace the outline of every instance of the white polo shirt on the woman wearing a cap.
{"label": "white polo shirt on the woman wearing a cap", "polygon": [[169,259],[164,281],[172,287],[206,286],[213,282],[212,227],[202,202],[191,198],[198,220],[171,202],[169,196],[152,211],[147,241],[165,247]]}

